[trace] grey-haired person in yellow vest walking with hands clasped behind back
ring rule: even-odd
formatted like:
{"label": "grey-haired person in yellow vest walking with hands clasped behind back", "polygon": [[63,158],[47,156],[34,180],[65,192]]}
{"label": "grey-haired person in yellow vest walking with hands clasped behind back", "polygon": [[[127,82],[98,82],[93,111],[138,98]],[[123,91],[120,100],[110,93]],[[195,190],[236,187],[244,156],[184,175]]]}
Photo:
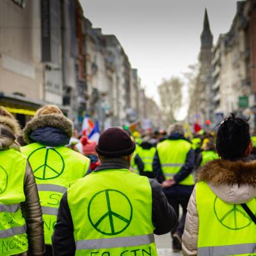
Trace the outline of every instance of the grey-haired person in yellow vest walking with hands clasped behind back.
{"label": "grey-haired person in yellow vest walking with hands clasped behind back", "polygon": [[182,123],[170,125],[168,130],[168,138],[157,145],[153,172],[158,182],[162,184],[163,192],[169,204],[175,209],[178,218],[180,205],[182,207],[179,225],[172,230],[173,252],[179,252],[187,205],[194,187],[192,170],[195,155],[191,143],[184,138]]}

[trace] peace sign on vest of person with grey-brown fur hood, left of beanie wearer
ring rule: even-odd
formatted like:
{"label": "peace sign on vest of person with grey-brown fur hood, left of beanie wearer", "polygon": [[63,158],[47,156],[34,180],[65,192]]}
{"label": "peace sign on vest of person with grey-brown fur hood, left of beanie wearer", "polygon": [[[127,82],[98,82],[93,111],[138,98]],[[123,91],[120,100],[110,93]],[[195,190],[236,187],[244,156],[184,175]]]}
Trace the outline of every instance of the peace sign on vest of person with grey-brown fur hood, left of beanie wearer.
{"label": "peace sign on vest of person with grey-brown fur hood, left of beanie wearer", "polygon": [[37,148],[28,157],[36,179],[49,180],[59,177],[65,168],[61,154],[54,148]]}

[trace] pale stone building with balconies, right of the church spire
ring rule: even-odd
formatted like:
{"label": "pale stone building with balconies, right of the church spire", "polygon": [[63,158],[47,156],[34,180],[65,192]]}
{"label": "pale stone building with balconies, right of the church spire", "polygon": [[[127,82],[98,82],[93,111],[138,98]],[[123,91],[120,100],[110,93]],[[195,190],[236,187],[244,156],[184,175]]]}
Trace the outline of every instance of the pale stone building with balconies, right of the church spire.
{"label": "pale stone building with balconies, right of the church spire", "polygon": [[252,12],[253,1],[238,1],[229,31],[220,35],[212,51],[212,99],[216,119],[229,113],[250,115],[254,126]]}

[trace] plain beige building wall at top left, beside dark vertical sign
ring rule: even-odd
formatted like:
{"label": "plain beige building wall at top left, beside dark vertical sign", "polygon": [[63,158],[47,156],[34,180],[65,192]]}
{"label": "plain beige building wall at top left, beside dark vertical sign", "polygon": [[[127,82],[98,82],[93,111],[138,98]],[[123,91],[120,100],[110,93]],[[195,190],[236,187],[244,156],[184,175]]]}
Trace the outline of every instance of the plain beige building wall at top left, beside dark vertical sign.
{"label": "plain beige building wall at top left, beside dark vertical sign", "polygon": [[40,1],[0,1],[0,92],[43,99]]}

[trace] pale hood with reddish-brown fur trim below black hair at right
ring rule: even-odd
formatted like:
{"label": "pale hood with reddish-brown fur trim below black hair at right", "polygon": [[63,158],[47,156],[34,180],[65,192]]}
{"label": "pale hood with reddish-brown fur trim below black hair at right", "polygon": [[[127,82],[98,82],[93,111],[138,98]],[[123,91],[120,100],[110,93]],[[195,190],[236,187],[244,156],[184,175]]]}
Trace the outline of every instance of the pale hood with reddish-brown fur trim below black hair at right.
{"label": "pale hood with reddish-brown fur trim below black hair at right", "polygon": [[243,204],[256,196],[256,161],[210,161],[198,172],[198,181],[207,182],[228,204]]}

